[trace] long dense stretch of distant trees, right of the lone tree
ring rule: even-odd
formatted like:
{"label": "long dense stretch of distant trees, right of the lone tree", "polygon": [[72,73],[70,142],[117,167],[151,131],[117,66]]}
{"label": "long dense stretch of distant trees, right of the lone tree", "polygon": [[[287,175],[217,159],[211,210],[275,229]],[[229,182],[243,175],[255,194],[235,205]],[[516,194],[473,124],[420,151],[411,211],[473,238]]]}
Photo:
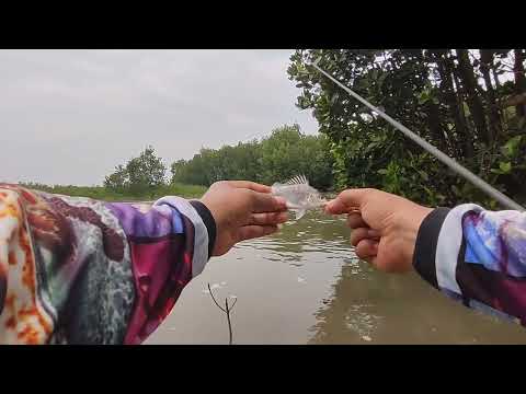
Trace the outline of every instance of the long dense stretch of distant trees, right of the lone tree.
{"label": "long dense stretch of distant trees, right of the lone tree", "polygon": [[333,158],[325,136],[302,135],[299,126],[283,126],[261,141],[239,142],[218,150],[202,149],[191,160],[171,166],[172,182],[209,186],[224,179],[264,184],[305,174],[320,189],[332,186]]}

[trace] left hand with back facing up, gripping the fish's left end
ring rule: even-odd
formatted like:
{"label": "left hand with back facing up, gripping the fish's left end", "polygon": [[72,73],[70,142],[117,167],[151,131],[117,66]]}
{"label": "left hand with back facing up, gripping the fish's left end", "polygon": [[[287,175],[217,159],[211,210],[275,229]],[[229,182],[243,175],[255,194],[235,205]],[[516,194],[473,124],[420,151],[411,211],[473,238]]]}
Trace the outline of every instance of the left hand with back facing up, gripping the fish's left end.
{"label": "left hand with back facing up, gripping the fish's left end", "polygon": [[271,187],[248,181],[221,181],[201,198],[216,221],[213,256],[227,253],[236,243],[272,234],[288,219],[285,199]]}

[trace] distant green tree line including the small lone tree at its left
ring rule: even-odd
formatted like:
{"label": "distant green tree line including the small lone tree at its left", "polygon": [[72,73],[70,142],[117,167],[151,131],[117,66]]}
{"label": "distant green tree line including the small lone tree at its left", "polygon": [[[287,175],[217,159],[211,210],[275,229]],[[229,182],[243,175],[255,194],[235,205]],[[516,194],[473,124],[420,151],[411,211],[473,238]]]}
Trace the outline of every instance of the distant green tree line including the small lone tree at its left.
{"label": "distant green tree line including the small lone tree at its left", "polygon": [[179,160],[167,167],[147,147],[137,158],[119,164],[104,179],[112,193],[147,196],[173,185],[209,186],[217,181],[247,179],[264,184],[283,182],[305,174],[323,190],[332,187],[332,154],[325,136],[301,134],[298,125],[276,128],[266,138],[220,149],[203,148],[190,160]]}

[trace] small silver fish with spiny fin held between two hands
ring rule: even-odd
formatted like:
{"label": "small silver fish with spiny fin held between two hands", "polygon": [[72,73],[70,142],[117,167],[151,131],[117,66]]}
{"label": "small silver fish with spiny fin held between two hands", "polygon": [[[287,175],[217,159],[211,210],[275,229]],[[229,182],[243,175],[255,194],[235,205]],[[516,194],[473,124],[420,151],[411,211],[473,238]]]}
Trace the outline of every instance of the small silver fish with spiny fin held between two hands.
{"label": "small silver fish with spiny fin held between two hands", "polygon": [[296,220],[301,219],[307,210],[323,207],[328,202],[309,185],[305,175],[295,176],[283,184],[275,183],[272,185],[272,194],[285,198],[287,208],[296,213]]}

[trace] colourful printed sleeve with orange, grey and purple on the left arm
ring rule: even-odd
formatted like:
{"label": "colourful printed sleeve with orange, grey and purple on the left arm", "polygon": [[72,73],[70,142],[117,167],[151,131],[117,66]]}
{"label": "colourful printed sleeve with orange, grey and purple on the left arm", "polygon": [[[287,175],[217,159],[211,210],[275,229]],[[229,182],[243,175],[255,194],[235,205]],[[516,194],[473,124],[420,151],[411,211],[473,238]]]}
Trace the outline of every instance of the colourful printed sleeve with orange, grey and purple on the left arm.
{"label": "colourful printed sleeve with orange, grey and purple on the left arm", "polygon": [[140,344],[208,262],[198,201],[103,202],[0,184],[0,344]]}

